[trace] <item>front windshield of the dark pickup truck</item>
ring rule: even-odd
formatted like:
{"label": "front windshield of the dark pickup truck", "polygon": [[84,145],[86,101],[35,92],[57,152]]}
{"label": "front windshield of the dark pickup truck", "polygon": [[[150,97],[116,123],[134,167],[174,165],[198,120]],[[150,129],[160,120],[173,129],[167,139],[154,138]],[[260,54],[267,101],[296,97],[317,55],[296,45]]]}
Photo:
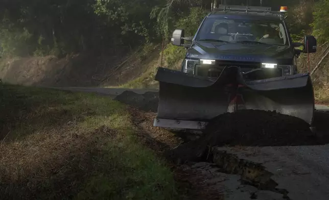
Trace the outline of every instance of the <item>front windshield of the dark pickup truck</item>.
{"label": "front windshield of the dark pickup truck", "polygon": [[289,45],[281,20],[207,18],[196,41]]}

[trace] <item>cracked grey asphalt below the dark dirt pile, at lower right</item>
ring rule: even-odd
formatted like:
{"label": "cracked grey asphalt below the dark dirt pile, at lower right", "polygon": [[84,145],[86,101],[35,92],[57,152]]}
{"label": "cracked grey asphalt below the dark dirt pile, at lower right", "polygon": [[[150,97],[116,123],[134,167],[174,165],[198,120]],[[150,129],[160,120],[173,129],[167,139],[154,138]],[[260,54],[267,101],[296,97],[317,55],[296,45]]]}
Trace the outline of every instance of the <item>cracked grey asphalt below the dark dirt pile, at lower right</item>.
{"label": "cracked grey asphalt below the dark dirt pile, at lower right", "polygon": [[[253,198],[328,199],[327,148],[328,145],[214,147],[213,161],[222,172],[240,175],[241,185],[248,186]],[[226,199],[252,198],[240,187],[230,190]]]}

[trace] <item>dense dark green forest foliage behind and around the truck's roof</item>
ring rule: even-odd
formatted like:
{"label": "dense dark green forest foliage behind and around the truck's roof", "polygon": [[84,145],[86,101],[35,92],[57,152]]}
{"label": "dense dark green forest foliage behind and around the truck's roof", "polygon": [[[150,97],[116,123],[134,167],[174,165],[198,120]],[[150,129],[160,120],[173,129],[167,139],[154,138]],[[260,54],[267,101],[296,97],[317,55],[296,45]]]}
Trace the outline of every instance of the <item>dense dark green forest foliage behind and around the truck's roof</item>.
{"label": "dense dark green forest foliage behind and around the truck's roof", "polygon": [[[193,34],[214,0],[4,0],[0,3],[1,53],[56,55],[134,47],[168,37],[174,27]],[[246,0],[218,3],[246,4]],[[329,0],[249,0],[249,5],[291,6],[291,30],[320,41],[329,36],[324,20]],[[288,5],[287,5],[288,4]],[[192,9],[191,9],[192,8]],[[313,20],[314,18],[314,20]]]}

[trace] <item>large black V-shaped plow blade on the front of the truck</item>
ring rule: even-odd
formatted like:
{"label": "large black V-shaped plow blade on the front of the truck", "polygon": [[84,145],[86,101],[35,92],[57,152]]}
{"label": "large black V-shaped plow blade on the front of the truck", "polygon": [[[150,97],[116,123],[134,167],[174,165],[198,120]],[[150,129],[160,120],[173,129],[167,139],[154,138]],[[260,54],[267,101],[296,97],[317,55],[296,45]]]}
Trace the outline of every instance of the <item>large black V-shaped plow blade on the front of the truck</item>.
{"label": "large black V-shaped plow blade on the front of the truck", "polygon": [[159,104],[155,127],[205,129],[209,120],[239,109],[276,111],[310,125],[315,110],[309,73],[244,81],[238,67],[225,68],[217,80],[158,68]]}

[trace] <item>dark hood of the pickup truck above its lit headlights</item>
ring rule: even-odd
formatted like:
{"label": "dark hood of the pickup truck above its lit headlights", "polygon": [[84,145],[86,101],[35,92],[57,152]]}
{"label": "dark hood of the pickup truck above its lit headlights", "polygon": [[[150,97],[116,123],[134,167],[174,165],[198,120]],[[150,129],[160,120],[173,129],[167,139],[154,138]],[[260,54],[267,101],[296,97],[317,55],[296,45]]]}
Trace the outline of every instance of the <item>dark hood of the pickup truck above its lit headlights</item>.
{"label": "dark hood of the pickup truck above its lit headlights", "polygon": [[193,42],[186,55],[187,58],[195,59],[276,62],[277,64],[290,64],[293,56],[290,46],[221,42]]}

